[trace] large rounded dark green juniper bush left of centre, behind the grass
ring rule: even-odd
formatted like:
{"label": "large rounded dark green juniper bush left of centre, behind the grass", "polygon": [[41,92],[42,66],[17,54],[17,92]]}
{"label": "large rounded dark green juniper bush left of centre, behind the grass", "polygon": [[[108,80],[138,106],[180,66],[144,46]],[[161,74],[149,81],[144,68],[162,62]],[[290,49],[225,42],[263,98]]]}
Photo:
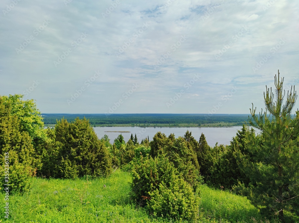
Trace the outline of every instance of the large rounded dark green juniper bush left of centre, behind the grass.
{"label": "large rounded dark green juniper bush left of centre, behind the grass", "polygon": [[71,123],[65,119],[58,121],[55,126],[55,140],[60,147],[57,152],[55,149],[52,151],[52,163],[49,162],[48,166],[48,169],[54,166],[53,177],[110,175],[112,163],[108,149],[103,140],[97,138],[87,119],[77,118]]}

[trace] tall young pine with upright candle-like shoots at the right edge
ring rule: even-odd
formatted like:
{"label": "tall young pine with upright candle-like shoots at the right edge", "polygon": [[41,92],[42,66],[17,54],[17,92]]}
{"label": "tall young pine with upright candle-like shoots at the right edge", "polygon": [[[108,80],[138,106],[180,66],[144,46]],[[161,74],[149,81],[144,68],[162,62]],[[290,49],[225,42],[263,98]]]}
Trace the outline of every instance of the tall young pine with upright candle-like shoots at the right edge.
{"label": "tall young pine with upright candle-like shoots at the right edge", "polygon": [[[292,88],[283,104],[283,78],[275,75],[275,93],[272,88],[264,92],[266,111],[256,115],[250,109],[249,124],[261,130],[259,137],[248,134],[246,149],[255,154],[254,159],[239,152],[240,167],[250,179],[250,191],[239,183],[235,190],[246,193],[256,205],[264,204],[264,213],[278,214],[285,222],[284,213],[291,211],[299,196],[299,112],[292,119],[297,95]],[[274,101],[275,98],[275,101]],[[269,112],[269,114],[268,114]],[[293,211],[292,211],[293,210]]]}

